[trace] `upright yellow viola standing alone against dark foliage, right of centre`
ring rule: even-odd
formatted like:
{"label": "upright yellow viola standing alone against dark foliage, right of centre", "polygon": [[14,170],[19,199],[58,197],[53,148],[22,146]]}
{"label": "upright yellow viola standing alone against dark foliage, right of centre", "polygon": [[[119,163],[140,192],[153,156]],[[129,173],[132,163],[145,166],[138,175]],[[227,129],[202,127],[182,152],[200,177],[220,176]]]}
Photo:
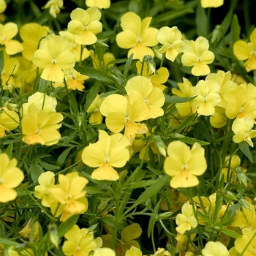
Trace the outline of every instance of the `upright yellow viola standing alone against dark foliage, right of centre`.
{"label": "upright yellow viola standing alone against dark foliage, right of centre", "polygon": [[171,142],[167,147],[164,170],[173,178],[170,187],[194,187],[199,184],[196,176],[202,175],[207,168],[204,148],[195,143],[190,149],[179,140]]}

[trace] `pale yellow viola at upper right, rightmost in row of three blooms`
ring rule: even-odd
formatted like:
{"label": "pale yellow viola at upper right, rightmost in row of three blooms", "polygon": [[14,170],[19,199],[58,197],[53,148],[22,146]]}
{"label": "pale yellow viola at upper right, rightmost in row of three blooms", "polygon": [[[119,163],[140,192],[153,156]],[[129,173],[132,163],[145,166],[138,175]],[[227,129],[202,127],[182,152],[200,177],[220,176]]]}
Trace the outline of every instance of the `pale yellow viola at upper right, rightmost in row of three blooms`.
{"label": "pale yellow viola at upper right, rightmost in row of three blooms", "polygon": [[209,42],[205,37],[197,37],[195,41],[184,40],[184,54],[181,62],[186,67],[192,67],[192,75],[208,75],[211,70],[207,64],[214,61],[214,53],[208,50]]}

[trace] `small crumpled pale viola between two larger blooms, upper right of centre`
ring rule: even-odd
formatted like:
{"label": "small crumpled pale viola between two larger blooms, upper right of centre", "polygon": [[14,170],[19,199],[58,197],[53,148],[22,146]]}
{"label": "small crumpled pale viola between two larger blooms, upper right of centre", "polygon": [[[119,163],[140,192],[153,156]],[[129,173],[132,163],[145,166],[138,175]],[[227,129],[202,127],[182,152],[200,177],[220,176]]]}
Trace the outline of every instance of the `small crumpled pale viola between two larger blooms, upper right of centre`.
{"label": "small crumpled pale viola between two larger blooms, upper right of centre", "polygon": [[166,59],[175,61],[178,53],[182,53],[184,50],[184,42],[181,40],[181,31],[176,26],[169,28],[164,26],[157,32],[156,39],[162,44],[158,52],[160,54],[165,53]]}

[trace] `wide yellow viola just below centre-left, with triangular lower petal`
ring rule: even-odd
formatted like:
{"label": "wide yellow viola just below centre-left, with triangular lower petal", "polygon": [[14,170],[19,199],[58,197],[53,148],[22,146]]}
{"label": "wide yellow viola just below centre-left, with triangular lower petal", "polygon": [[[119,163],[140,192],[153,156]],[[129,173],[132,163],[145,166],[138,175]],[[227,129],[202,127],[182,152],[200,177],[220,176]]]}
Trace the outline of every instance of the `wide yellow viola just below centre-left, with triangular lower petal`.
{"label": "wide yellow viola just below centre-left, with triangular lower petal", "polygon": [[119,178],[113,167],[124,167],[129,160],[129,140],[121,133],[108,135],[99,130],[99,140],[83,149],[82,160],[90,167],[98,167],[91,173],[97,180],[116,181]]}

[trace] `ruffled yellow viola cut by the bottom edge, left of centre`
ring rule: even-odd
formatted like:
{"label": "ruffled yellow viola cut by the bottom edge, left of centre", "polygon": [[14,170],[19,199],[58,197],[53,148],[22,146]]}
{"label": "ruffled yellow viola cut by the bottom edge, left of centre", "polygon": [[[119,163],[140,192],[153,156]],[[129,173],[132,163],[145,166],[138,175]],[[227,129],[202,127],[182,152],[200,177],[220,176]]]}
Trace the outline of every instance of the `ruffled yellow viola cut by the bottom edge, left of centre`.
{"label": "ruffled yellow viola cut by the bottom edge, left of centre", "polygon": [[97,243],[94,239],[94,233],[89,232],[87,228],[79,228],[74,225],[71,230],[65,234],[62,246],[64,255],[67,256],[82,256],[89,255],[90,252],[97,248]]}

